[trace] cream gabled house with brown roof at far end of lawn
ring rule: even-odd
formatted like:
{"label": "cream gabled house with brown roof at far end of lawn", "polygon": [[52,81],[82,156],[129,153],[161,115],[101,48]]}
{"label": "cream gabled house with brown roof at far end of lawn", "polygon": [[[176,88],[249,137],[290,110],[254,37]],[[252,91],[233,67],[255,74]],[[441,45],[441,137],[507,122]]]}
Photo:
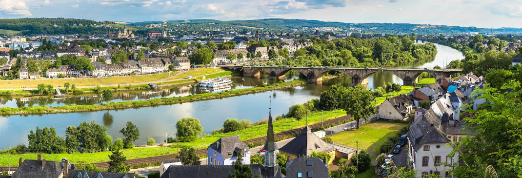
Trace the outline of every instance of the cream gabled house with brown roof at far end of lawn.
{"label": "cream gabled house with brown roof at far end of lawn", "polygon": [[388,98],[379,105],[379,117],[386,120],[406,121],[413,108],[413,103],[406,94]]}

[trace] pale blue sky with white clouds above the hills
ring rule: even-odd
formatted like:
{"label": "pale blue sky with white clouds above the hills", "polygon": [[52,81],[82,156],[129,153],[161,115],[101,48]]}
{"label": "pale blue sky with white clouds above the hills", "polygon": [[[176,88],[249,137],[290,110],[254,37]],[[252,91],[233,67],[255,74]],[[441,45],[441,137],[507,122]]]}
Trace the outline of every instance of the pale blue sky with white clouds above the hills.
{"label": "pale blue sky with white clouds above the hills", "polygon": [[522,28],[513,0],[0,0],[0,18],[97,21],[307,19]]}

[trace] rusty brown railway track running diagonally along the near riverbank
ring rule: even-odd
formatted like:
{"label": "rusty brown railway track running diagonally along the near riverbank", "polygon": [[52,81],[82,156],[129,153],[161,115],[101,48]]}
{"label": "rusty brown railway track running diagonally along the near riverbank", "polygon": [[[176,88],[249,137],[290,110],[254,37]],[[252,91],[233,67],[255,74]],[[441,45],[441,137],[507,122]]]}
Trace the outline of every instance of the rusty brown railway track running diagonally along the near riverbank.
{"label": "rusty brown railway track running diagonally along the near riverbank", "polygon": [[[349,118],[351,118],[351,116],[345,115],[345,116],[334,118],[332,120],[324,121],[322,124],[321,123],[312,124],[312,125],[309,125],[309,127],[312,129],[319,128],[319,127],[321,127],[321,125],[334,124],[334,123],[338,123],[340,121],[348,120]],[[274,138],[280,139],[280,138],[285,138],[288,136],[293,136],[295,133],[301,133],[302,130],[303,130],[303,128],[295,128],[295,129],[287,130],[284,132],[274,134]],[[260,141],[266,141],[266,137],[253,138],[253,139],[249,139],[249,140],[244,140],[243,142],[248,145],[250,143],[258,143]],[[195,152],[196,152],[197,156],[204,156],[204,155],[206,155],[207,149],[198,149],[198,150],[195,150]],[[177,154],[161,155],[161,156],[148,157],[148,158],[129,159],[126,162],[131,166],[145,165],[145,164],[151,164],[151,163],[158,163],[158,162],[161,162],[162,160],[174,159],[174,158],[176,158],[176,156],[177,156]],[[97,162],[97,163],[93,163],[93,164],[96,165],[96,167],[101,168],[101,169],[109,168],[108,162]],[[0,167],[0,168],[2,168],[4,171],[7,171],[7,169],[8,169],[7,167]],[[11,167],[11,171],[16,170],[17,168],[18,167]]]}

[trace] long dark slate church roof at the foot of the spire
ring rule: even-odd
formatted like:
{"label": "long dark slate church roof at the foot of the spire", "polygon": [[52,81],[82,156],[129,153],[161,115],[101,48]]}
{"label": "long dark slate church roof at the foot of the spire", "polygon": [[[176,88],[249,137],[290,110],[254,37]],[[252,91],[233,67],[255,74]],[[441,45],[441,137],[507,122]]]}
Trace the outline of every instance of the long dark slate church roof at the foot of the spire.
{"label": "long dark slate church roof at the foot of the spire", "polygon": [[[262,164],[251,164],[253,177],[281,178],[281,168],[275,167],[276,176],[267,175],[267,167]],[[234,173],[233,165],[170,165],[161,178],[204,178],[204,177],[227,177],[228,173]]]}

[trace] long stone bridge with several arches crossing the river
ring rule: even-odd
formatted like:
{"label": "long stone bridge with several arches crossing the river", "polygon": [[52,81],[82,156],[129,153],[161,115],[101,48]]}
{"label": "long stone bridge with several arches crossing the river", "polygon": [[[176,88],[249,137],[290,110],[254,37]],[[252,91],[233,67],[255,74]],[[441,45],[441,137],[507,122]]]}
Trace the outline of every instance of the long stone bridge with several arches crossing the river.
{"label": "long stone bridge with several arches crossing the river", "polygon": [[234,65],[220,65],[223,69],[232,70],[234,72],[241,72],[244,70],[244,77],[259,76],[262,69],[265,69],[270,77],[283,79],[284,74],[290,70],[297,70],[306,78],[308,82],[322,81],[322,76],[331,71],[336,71],[346,74],[352,79],[352,86],[355,84],[365,85],[369,76],[376,72],[391,73],[404,81],[403,85],[412,85],[413,81],[418,81],[417,77],[421,73],[429,73],[437,82],[442,82],[445,77],[452,74],[461,73],[461,69],[420,69],[420,68],[355,68],[355,67],[340,67],[340,68],[317,68],[317,67],[277,67],[277,66],[234,66]]}

